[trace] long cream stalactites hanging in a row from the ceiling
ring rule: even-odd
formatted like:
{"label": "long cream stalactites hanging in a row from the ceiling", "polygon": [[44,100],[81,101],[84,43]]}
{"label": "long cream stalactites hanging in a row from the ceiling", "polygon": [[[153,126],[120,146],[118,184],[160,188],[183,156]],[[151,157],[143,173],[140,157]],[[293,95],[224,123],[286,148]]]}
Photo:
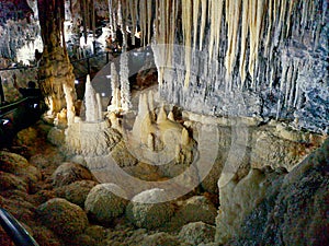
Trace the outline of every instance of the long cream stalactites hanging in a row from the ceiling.
{"label": "long cream stalactites hanging in a row from the ceiling", "polygon": [[[247,74],[251,78],[248,86],[257,87],[260,52],[271,59],[273,47],[288,38],[293,28],[299,28],[303,35],[303,30],[314,28],[315,23],[324,24],[326,11],[321,11],[320,20],[315,17],[324,4],[321,0],[109,0],[112,30],[128,26],[134,34],[138,25],[144,45],[150,44],[151,36],[155,44],[174,44],[179,33],[182,33],[186,47],[185,86],[190,80],[192,50],[206,51],[211,62],[219,58],[220,45],[225,43],[223,66],[226,68],[228,89],[232,87],[235,69],[240,77],[238,87],[246,86]],[[302,14],[296,14],[300,11]],[[126,32],[123,33],[126,42]],[[132,37],[134,42],[134,35]],[[166,49],[160,55],[170,65],[172,49]],[[163,69],[160,69],[159,78],[161,83]]]}

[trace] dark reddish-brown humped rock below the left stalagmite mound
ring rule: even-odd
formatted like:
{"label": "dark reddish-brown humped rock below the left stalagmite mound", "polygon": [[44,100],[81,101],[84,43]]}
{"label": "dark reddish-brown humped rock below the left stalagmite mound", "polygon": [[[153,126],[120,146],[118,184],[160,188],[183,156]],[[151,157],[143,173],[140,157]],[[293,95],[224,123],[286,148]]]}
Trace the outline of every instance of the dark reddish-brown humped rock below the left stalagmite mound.
{"label": "dark reddish-brown humped rock below the left stalagmite mound", "polygon": [[78,180],[95,180],[91,172],[77,163],[65,162],[52,175],[53,184],[56,187],[69,185]]}

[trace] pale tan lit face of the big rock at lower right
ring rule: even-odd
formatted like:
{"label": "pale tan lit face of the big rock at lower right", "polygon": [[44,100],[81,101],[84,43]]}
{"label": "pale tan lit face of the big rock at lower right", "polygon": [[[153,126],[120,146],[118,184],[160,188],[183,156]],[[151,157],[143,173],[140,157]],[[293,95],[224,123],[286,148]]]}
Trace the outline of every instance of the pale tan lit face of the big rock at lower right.
{"label": "pale tan lit face of the big rock at lower right", "polygon": [[[269,175],[266,175],[269,173]],[[241,180],[231,179],[219,188],[219,211],[216,218],[216,242],[225,244],[240,233],[240,225],[249,213],[264,199],[266,188],[280,180],[281,169],[271,167],[250,169]]]}

